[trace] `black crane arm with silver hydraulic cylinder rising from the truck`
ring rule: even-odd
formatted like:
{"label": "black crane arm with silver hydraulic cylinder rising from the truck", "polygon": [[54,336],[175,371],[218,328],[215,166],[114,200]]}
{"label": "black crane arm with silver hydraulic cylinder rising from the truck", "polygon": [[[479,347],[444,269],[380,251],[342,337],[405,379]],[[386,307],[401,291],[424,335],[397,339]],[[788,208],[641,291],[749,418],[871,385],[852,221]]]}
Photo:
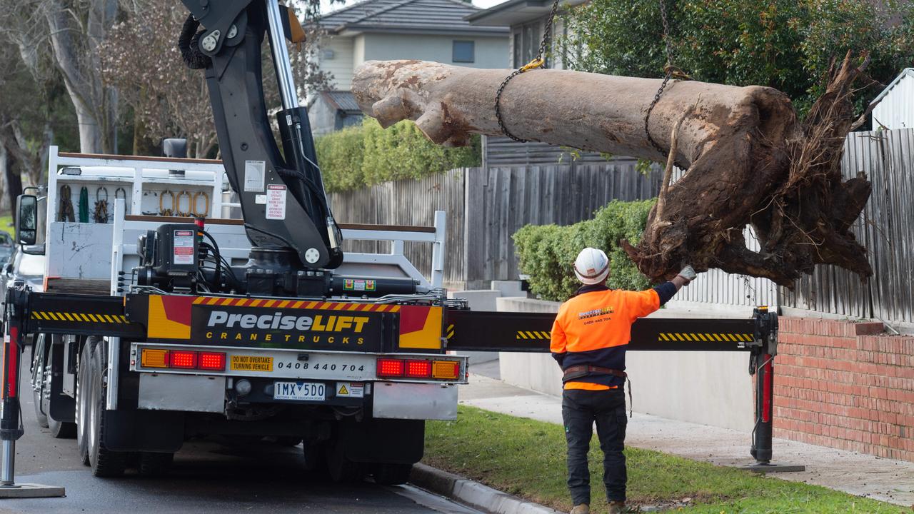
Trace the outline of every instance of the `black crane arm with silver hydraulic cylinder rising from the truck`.
{"label": "black crane arm with silver hydraulic cylinder rising from the truck", "polygon": [[[182,0],[190,11],[179,46],[188,66],[205,68],[219,150],[253,246],[292,249],[305,268],[343,262],[342,238],[324,193],[307,110],[299,105],[277,0]],[[197,32],[197,27],[203,27]],[[271,47],[282,109],[264,101],[261,51]]]}

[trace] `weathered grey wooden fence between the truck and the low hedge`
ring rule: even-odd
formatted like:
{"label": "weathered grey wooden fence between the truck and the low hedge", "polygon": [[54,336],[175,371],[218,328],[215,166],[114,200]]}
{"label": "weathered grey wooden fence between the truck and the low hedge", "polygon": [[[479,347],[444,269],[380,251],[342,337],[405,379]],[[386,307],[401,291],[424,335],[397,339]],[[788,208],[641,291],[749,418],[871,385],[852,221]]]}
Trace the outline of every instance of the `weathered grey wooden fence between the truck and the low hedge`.
{"label": "weathered grey wooden fence between the truck and the low hedge", "polygon": [[[448,216],[446,283],[488,287],[518,277],[511,236],[526,224],[567,225],[590,219],[613,198],[653,198],[660,174],[639,174],[630,159],[600,165],[463,168],[421,180],[399,180],[330,195],[343,223],[430,225],[435,210]],[[429,273],[430,247],[405,253]],[[388,252],[388,243],[346,241],[348,252]]]}

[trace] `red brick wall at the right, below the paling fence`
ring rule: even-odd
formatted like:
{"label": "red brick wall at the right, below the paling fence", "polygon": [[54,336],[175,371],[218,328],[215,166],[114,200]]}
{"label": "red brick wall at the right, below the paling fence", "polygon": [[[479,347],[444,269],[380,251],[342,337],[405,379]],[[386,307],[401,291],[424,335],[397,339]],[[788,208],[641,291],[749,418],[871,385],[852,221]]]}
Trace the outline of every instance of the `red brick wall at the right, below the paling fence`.
{"label": "red brick wall at the right, below the paling fence", "polygon": [[914,461],[914,337],[781,317],[774,435]]}

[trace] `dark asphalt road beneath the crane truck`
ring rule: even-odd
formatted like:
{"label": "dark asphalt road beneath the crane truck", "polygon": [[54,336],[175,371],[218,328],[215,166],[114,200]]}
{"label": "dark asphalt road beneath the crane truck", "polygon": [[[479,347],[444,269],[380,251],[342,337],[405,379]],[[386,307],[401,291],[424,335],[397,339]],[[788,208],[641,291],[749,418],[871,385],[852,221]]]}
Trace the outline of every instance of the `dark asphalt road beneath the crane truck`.
{"label": "dark asphalt road beneath the crane truck", "polygon": [[338,512],[478,514],[411,486],[365,482],[338,485],[303,470],[302,447],[193,441],[175,455],[172,473],[143,478],[95,478],[82,466],[73,439],[53,439],[35,418],[24,356],[22,412],[26,434],[16,442],[16,482],[63,486],[65,498],[2,499],[0,513]]}

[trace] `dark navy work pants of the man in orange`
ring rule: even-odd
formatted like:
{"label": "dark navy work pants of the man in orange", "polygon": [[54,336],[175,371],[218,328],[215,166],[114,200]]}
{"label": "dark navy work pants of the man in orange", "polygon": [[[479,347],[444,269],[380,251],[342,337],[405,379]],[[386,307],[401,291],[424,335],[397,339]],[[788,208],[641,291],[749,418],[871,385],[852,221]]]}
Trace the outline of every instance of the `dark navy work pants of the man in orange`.
{"label": "dark navy work pants of the man in orange", "polygon": [[587,453],[593,423],[603,451],[603,485],[610,501],[625,501],[625,394],[608,391],[566,390],[562,393],[562,421],[569,445],[569,491],[574,505],[590,504],[590,470]]}

